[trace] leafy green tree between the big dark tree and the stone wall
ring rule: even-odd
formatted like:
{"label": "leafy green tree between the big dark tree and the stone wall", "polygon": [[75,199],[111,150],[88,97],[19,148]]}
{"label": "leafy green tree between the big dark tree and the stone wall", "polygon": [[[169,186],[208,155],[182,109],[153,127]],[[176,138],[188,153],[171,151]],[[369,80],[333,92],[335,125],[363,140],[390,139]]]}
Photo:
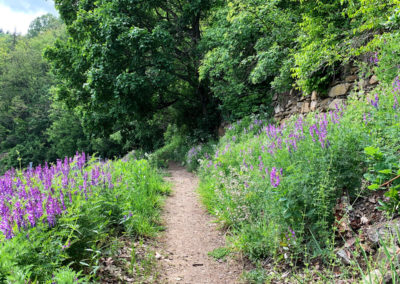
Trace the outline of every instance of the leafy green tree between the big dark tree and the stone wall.
{"label": "leafy green tree between the big dark tree and the stone wall", "polygon": [[228,120],[258,112],[274,93],[291,88],[298,13],[291,1],[224,1],[203,38],[202,80],[222,101]]}

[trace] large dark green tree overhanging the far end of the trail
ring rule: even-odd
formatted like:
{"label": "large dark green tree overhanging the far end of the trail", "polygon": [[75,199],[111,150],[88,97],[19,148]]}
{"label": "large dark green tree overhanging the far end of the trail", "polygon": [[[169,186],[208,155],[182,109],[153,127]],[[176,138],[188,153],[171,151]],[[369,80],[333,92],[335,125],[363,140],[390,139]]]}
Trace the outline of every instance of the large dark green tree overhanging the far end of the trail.
{"label": "large dark green tree overhanging the far end of the trail", "polygon": [[61,82],[58,99],[79,106],[86,127],[99,137],[120,131],[132,139],[138,125],[165,109],[187,129],[216,129],[215,103],[198,80],[200,23],[210,5],[57,0],[70,35],[46,51]]}

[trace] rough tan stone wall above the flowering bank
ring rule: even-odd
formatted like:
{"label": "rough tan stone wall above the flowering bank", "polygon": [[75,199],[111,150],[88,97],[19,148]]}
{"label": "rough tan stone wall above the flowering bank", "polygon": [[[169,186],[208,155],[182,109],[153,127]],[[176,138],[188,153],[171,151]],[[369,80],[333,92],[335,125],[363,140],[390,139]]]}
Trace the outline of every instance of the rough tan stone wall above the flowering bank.
{"label": "rough tan stone wall above the flowering bank", "polygon": [[333,110],[336,105],[340,105],[347,99],[352,90],[363,89],[368,92],[378,83],[375,75],[359,79],[356,73],[357,69],[352,69],[341,81],[333,83],[328,94],[324,96],[316,91],[304,96],[294,89],[285,94],[276,94],[273,98],[275,118],[283,121],[294,114]]}

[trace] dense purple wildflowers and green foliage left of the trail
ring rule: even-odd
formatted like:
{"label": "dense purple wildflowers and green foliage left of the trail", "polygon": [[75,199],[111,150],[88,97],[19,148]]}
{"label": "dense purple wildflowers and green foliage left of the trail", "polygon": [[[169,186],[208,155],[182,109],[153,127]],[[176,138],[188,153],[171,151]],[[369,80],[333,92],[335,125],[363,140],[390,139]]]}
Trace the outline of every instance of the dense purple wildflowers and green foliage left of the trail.
{"label": "dense purple wildflowers and green foliage left of the trail", "polygon": [[87,158],[0,178],[1,282],[95,280],[113,237],[157,231],[168,187],[148,162]]}

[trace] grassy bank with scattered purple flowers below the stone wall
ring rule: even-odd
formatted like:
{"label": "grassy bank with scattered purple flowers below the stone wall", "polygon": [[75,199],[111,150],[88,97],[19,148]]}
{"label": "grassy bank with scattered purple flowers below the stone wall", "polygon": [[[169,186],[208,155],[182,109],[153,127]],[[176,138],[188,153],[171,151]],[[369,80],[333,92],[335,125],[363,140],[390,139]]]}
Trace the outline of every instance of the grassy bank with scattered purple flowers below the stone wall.
{"label": "grassy bank with scattered purple flowers below the stone wall", "polygon": [[380,209],[397,216],[398,179],[381,185],[400,174],[399,86],[396,78],[282,125],[259,117],[232,124],[199,173],[203,201],[230,229],[234,249],[254,262],[340,265],[338,200],[382,191]]}

